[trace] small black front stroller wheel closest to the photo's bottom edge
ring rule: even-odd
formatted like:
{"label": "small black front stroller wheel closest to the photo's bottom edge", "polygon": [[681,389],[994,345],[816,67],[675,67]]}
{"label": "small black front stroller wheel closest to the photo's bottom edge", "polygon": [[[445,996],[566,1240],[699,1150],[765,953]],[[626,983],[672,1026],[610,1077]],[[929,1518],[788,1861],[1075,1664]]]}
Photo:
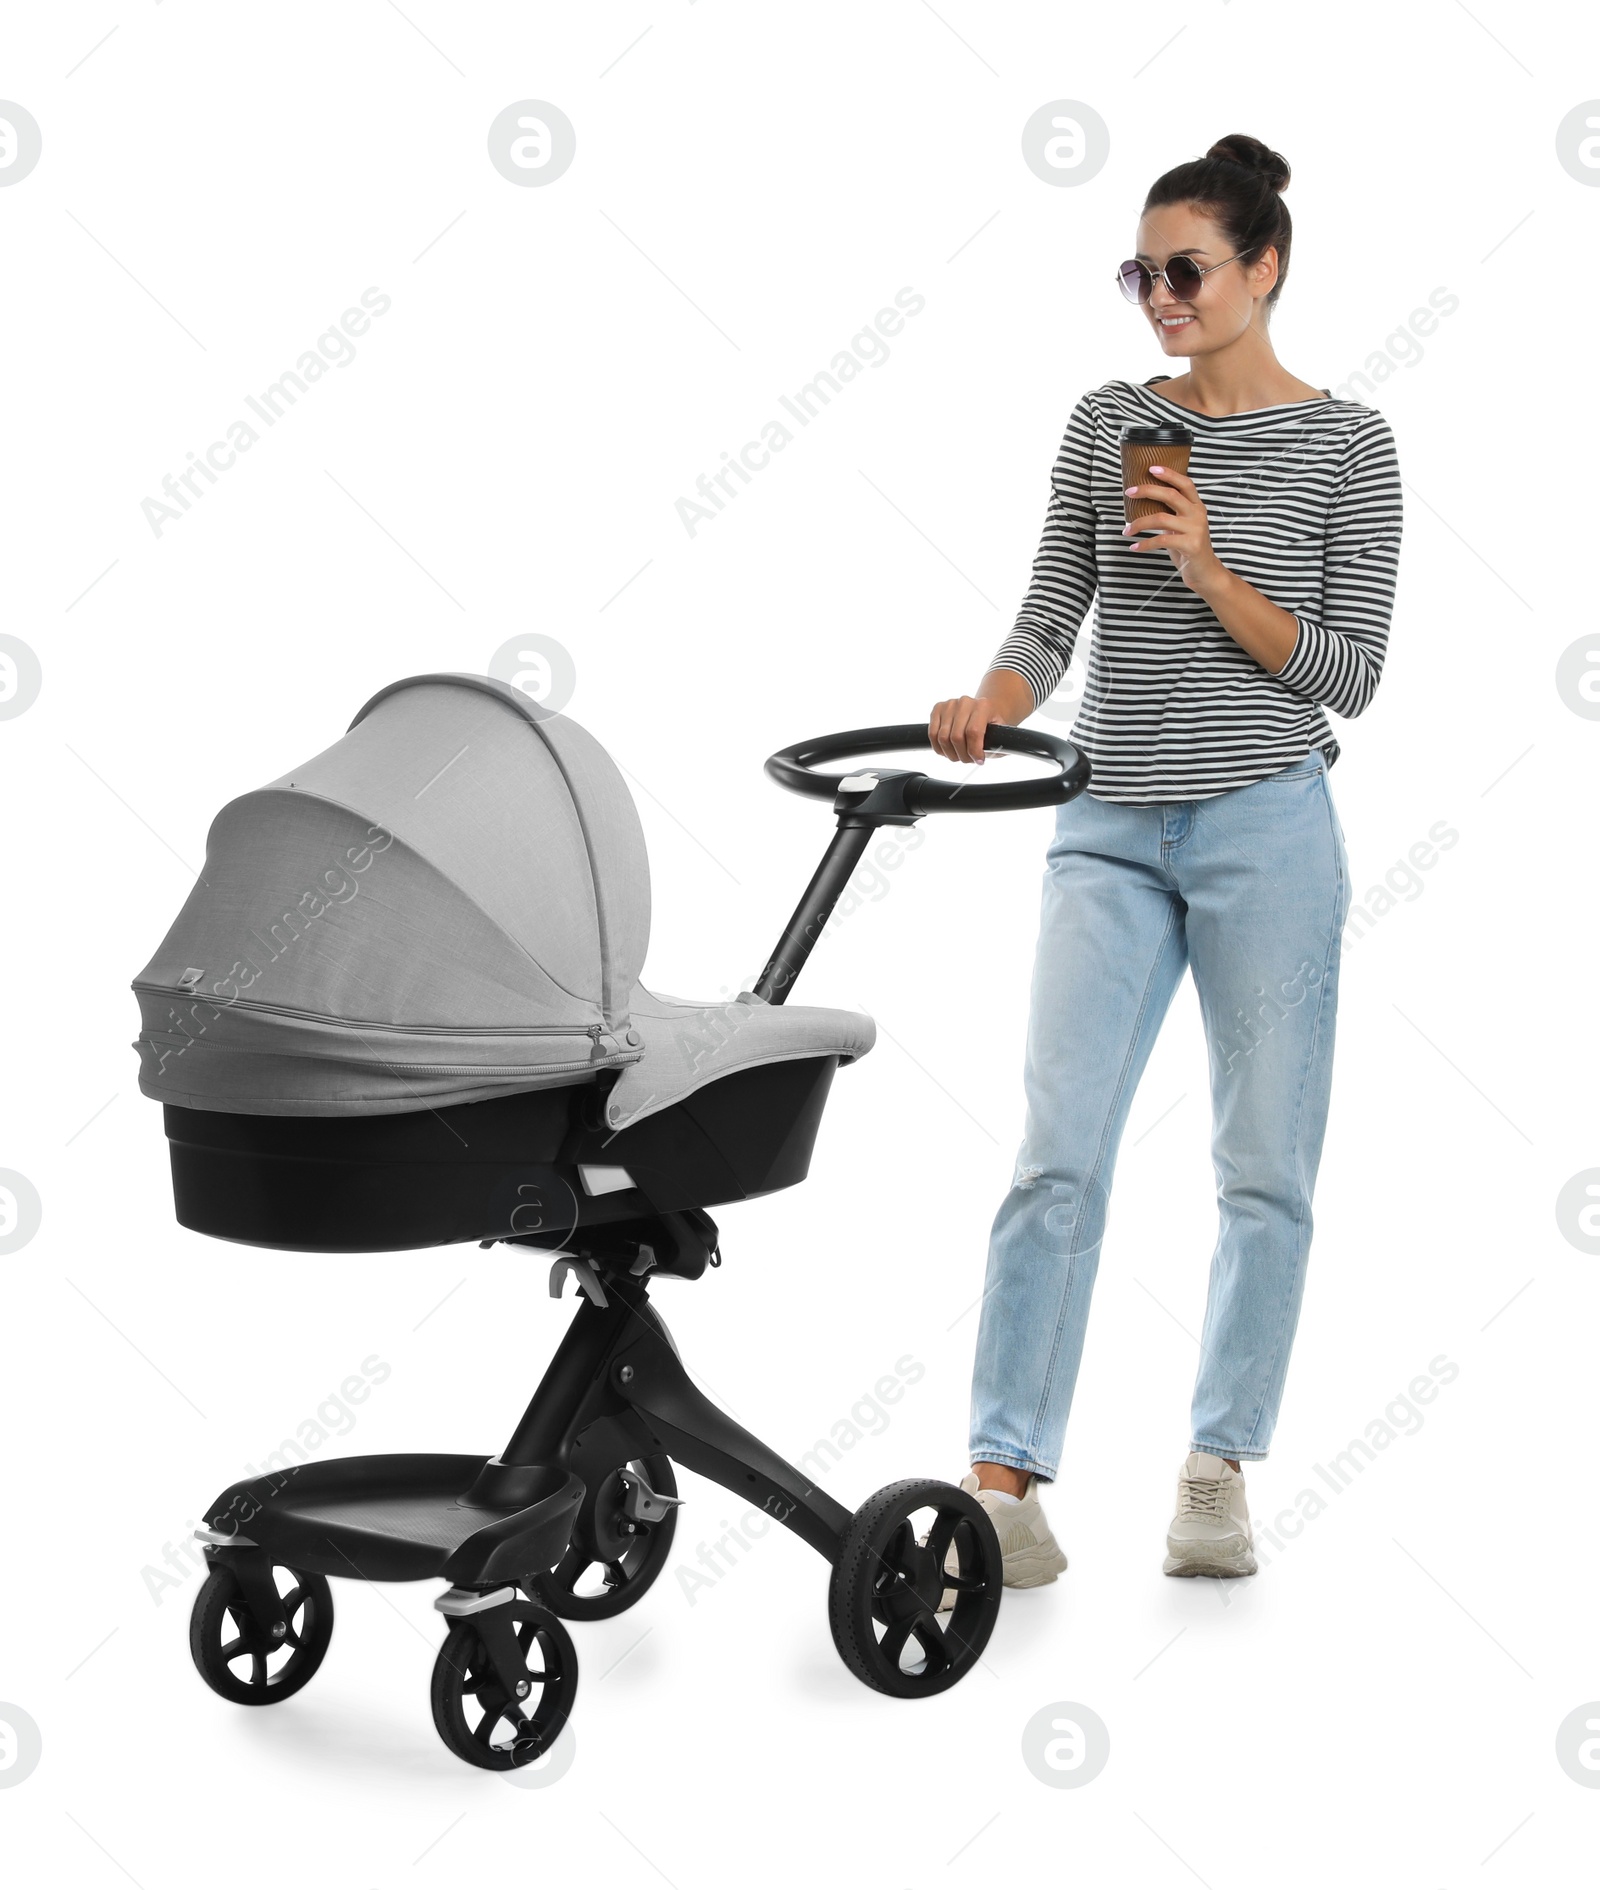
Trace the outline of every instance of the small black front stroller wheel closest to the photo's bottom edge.
{"label": "small black front stroller wheel closest to the photo's bottom edge", "polygon": [[508,1608],[527,1669],[523,1699],[506,1693],[470,1614],[450,1629],[433,1663],[438,1737],[484,1771],[512,1771],[548,1752],[578,1693],[578,1650],[561,1622],[521,1595]]}

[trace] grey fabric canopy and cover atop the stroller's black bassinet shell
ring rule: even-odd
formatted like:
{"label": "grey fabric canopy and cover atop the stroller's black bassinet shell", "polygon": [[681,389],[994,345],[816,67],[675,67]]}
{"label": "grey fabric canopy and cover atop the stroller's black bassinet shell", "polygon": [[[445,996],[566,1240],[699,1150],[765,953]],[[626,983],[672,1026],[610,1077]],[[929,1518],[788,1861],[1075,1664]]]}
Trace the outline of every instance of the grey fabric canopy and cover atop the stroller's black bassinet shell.
{"label": "grey fabric canopy and cover atop the stroller's black bassinet shell", "polygon": [[621,1066],[623,1126],[752,1062],[871,1049],[850,1011],[655,998],[648,941],[644,833],[604,748],[487,677],[412,677],[213,820],[134,981],[140,1089],[387,1115]]}

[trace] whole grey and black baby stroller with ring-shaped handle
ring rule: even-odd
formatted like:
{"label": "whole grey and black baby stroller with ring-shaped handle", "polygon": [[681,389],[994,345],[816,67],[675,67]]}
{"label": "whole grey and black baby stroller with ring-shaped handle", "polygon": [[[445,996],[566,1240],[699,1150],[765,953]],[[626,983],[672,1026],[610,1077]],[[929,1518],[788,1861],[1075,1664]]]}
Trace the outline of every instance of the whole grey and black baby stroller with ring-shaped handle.
{"label": "whole grey and black baby stroller with ring-shaped handle", "polygon": [[674,1463],[829,1561],[833,1641],[867,1686],[939,1693],[977,1661],[1001,1599],[982,1508],[911,1478],[852,1514],[695,1389],[650,1289],[720,1264],[708,1208],[805,1179],[833,1072],[873,1045],[867,1017],[784,1004],[873,832],[1043,807],[1088,779],[1050,735],[990,743],[1052,773],[812,773],[926,747],[914,724],[774,754],[767,771],[833,801],[837,832],[729,1004],[638,983],[650,873],[627,786],[576,722],[506,684],[395,682],[323,754],[217,815],[134,983],[178,1219],[310,1253],[506,1242],[552,1259],[553,1295],[578,1287],[499,1455],[306,1461],[210,1504],[191,1652],[217,1693],[270,1705],[312,1678],[331,1576],[440,1578],[434,1726],[472,1765],[529,1763],[578,1686],[563,1622],[633,1606],[667,1561]]}

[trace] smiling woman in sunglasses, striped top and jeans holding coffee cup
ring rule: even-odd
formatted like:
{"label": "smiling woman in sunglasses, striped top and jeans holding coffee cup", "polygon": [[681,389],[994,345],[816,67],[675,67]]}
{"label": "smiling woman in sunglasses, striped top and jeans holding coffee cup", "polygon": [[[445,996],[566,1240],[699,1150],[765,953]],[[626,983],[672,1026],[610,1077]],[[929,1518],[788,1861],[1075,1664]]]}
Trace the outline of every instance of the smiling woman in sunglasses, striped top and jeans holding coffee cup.
{"label": "smiling woman in sunglasses, striped top and jeans holding coffee cup", "polygon": [[[1273,353],[1286,183],[1275,151],[1230,136],[1150,189],[1118,276],[1188,370],[1079,401],[1016,627],[977,694],[929,720],[939,754],[982,762],[986,726],[1022,722],[1058,686],[1099,593],[1073,726],[1092,777],[1047,854],[1028,1121],[973,1370],[963,1487],[1014,1588],[1067,1565],[1037,1486],[1060,1461],[1116,1145],[1184,966],[1209,1043],[1220,1232],[1164,1569],[1256,1569],[1241,1465],[1271,1444],[1300,1312],[1349,907],[1324,709],[1371,701],[1400,556],[1383,416]],[[1154,533],[1124,525],[1130,423],[1194,433],[1188,472],[1154,465],[1128,488],[1171,510]]]}

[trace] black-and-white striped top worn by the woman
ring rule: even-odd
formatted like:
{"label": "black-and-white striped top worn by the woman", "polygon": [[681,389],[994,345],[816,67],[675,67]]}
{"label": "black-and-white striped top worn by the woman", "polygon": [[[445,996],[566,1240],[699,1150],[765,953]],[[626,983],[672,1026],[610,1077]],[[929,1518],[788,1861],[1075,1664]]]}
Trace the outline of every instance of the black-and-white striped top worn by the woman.
{"label": "black-and-white striped top worn by the woman", "polygon": [[[1213,550],[1300,626],[1277,675],[1228,635],[1166,552],[1130,550],[1126,423],[1194,433],[1188,476]],[[1260,781],[1307,748],[1322,748],[1332,765],[1339,745],[1324,709],[1360,714],[1383,673],[1400,514],[1394,438],[1383,414],[1360,401],[1211,416],[1152,386],[1111,380],[1067,421],[1033,580],[990,667],[1018,671],[1035,705],[1045,703],[1098,592],[1071,730],[1090,758],[1090,794],[1135,807],[1203,799]]]}

